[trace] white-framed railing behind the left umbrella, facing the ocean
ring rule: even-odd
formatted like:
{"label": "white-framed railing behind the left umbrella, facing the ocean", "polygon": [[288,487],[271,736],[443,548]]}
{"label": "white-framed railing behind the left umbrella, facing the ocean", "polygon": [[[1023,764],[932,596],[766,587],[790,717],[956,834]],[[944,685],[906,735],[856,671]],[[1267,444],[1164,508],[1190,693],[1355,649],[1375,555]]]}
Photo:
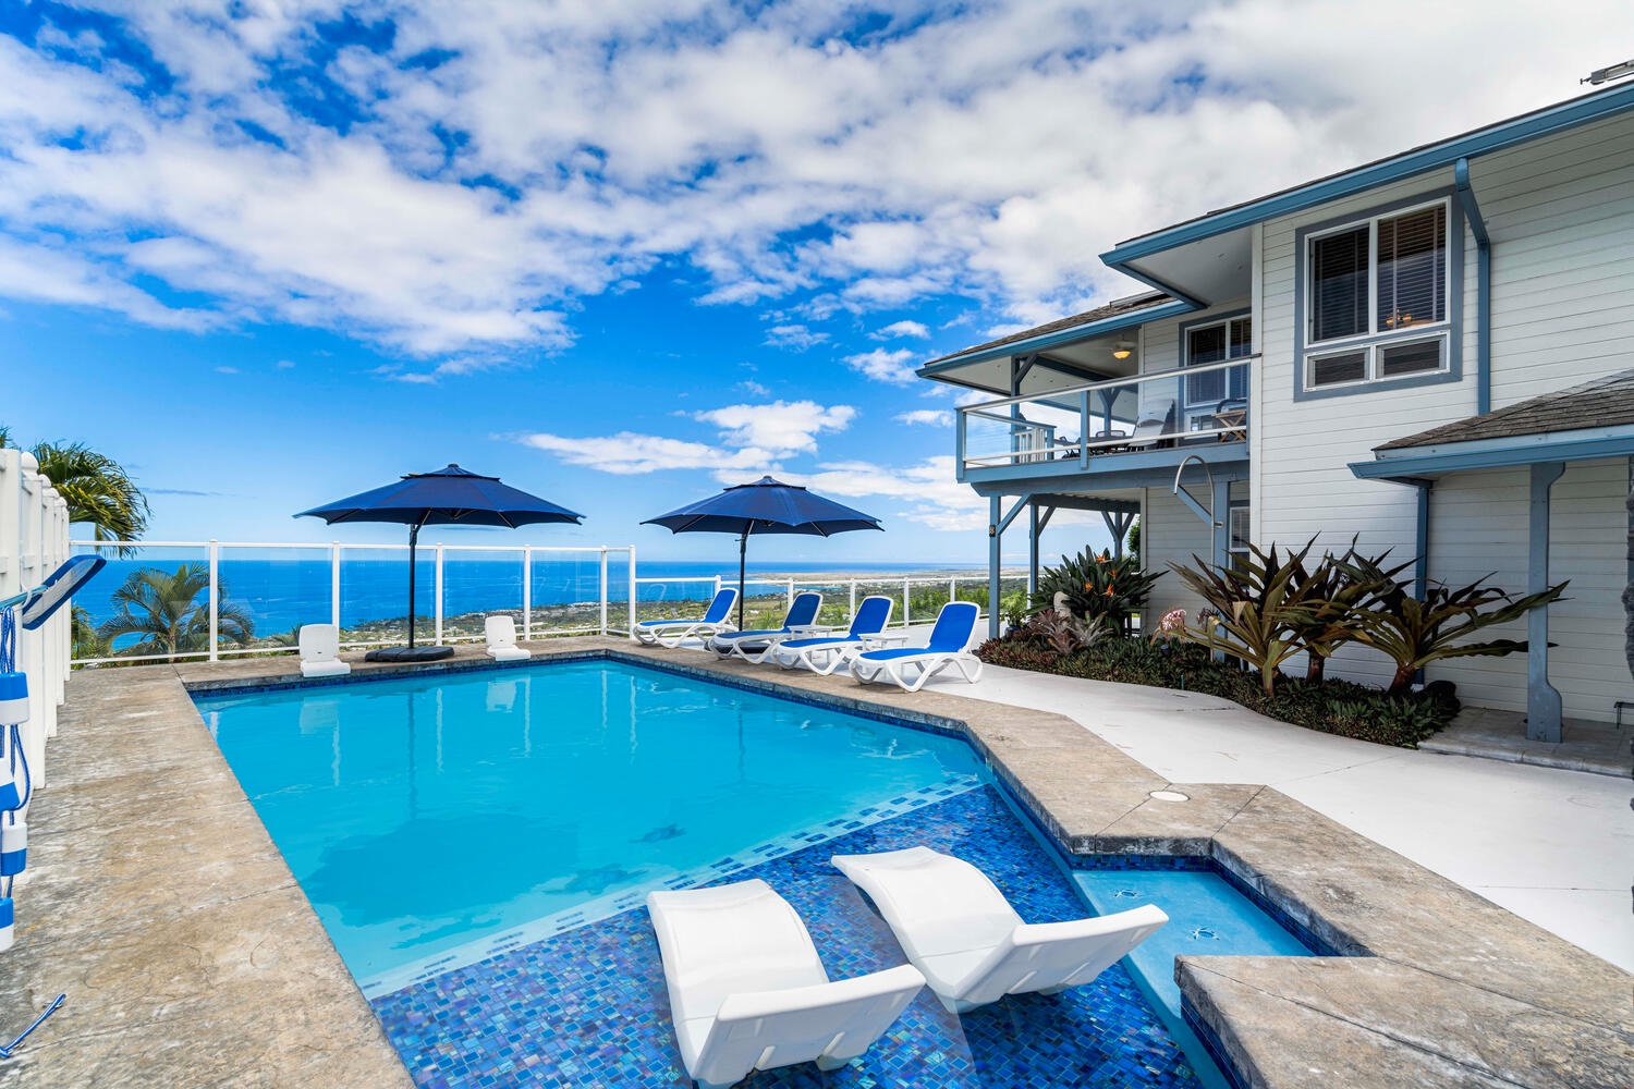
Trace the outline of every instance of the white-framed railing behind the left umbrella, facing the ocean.
{"label": "white-framed railing behind the left umbrella, facing the ocean", "polygon": [[[322,565],[325,568],[325,581],[328,583],[327,602],[319,602],[315,598],[310,601],[301,601],[292,606],[299,612],[297,625],[301,622],[312,624],[327,620],[342,629],[346,635],[348,627],[351,629],[353,638],[346,638],[342,645],[346,648],[358,647],[382,647],[394,645],[407,640],[407,624],[402,625],[402,635],[395,632],[382,630],[379,625],[389,624],[402,617],[407,620],[407,589],[400,586],[400,580],[407,578],[407,568],[402,563],[392,563],[395,578],[399,581],[389,581],[382,585],[376,580],[377,586],[397,586],[400,598],[394,606],[381,606],[387,616],[381,617],[356,617],[351,624],[346,624],[346,606],[355,604],[346,596],[348,583],[348,557],[356,562],[366,553],[391,553],[392,557],[407,557],[407,544],[288,544],[288,542],[253,542],[253,540],[126,540],[126,542],[98,542],[98,540],[75,540],[72,547],[75,550],[96,550],[109,549],[116,545],[124,545],[129,549],[139,549],[136,560],[119,562],[116,568],[111,568],[116,576],[123,575],[129,578],[134,571],[144,568],[163,570],[165,565],[178,563],[176,557],[154,557],[155,550],[188,550],[190,555],[181,563],[196,562],[208,570],[208,581],[201,591],[203,599],[176,601],[170,602],[172,614],[186,614],[194,617],[196,625],[199,619],[204,620],[208,637],[203,640],[203,647],[183,648],[180,642],[176,650],[172,653],[168,648],[165,653],[150,655],[131,655],[119,653],[118,648],[111,648],[109,653],[103,655],[85,655],[74,656],[74,665],[109,665],[109,663],[141,663],[141,661],[183,661],[183,660],[206,660],[219,661],[222,656],[239,656],[239,655],[266,655],[266,653],[289,653],[294,650],[291,643],[276,642],[278,635],[270,632],[258,633],[258,640],[275,640],[275,642],[257,642],[252,645],[232,645],[225,643],[222,638],[222,616],[224,606],[227,604],[248,604],[257,607],[260,612],[268,611],[266,601],[257,601],[255,594],[235,593],[232,588],[230,573],[222,570],[222,563],[234,562],[234,552],[240,553],[239,562],[253,557],[242,557],[245,550],[261,550],[261,552],[279,552],[284,555],[294,553],[315,553],[314,570]],[[145,553],[145,555],[142,555]],[[500,589],[495,594],[482,599],[482,602],[471,602],[471,609],[461,611],[458,616],[451,617],[448,611],[449,594],[453,589],[459,589],[458,585],[451,586],[448,580],[448,568],[453,560],[466,553],[484,553],[495,557],[493,563],[502,563],[503,560],[513,560],[516,567],[515,583],[515,601],[505,601],[505,591]],[[619,571],[611,565],[613,558],[619,560]],[[324,562],[327,558],[327,563]],[[583,580],[575,576],[570,580],[570,596],[549,601],[536,602],[534,589],[538,585],[538,575],[541,568],[549,571],[551,562],[562,560],[578,560],[593,565],[593,581],[588,593],[580,594],[578,588]],[[299,562],[299,560],[297,560]],[[126,567],[131,565],[131,567]],[[139,565],[139,567],[137,567]],[[458,545],[458,544],[431,544],[420,545],[418,565],[415,568],[415,578],[422,573],[430,573],[431,578],[431,604],[430,617],[420,612],[417,606],[415,612],[422,619],[431,620],[431,637],[435,642],[456,643],[456,642],[480,642],[484,633],[480,630],[472,632],[454,632],[449,630],[449,619],[461,619],[487,612],[505,612],[515,611],[521,622],[521,638],[529,640],[536,635],[587,635],[587,633],[611,633],[621,632],[627,633],[631,625],[636,622],[636,547],[634,545],[592,545],[592,547],[574,547],[574,545]],[[356,573],[353,573],[351,581],[361,581]],[[82,594],[108,594],[118,583],[109,583],[109,570],[105,570],[96,576]],[[224,594],[225,588],[225,594]],[[327,607],[325,607],[327,604]],[[623,606],[623,625],[614,624],[613,606]],[[291,606],[286,606],[286,609]],[[400,609],[400,612],[392,612],[392,607]],[[541,611],[557,611],[562,616],[577,617],[585,616],[587,622],[575,624],[554,624],[551,616],[542,616]],[[203,611],[204,616],[198,617]],[[373,627],[371,627],[373,625]],[[361,633],[359,629],[369,629]],[[137,640],[141,642],[141,640]]]}

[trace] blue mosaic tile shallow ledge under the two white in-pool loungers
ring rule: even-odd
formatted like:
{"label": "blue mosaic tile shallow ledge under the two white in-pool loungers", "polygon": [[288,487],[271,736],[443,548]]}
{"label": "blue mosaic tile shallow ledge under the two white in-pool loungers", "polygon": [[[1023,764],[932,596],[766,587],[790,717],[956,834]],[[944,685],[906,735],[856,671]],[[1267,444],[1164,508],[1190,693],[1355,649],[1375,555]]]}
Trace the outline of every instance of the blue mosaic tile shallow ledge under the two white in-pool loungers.
{"label": "blue mosaic tile shallow ledge under the two white in-pool loungers", "polygon": [[[905,802],[907,798],[904,798]],[[980,787],[758,862],[806,919],[833,978],[904,957],[884,922],[828,864],[832,854],[926,844],[982,867],[1033,922],[1074,919],[1070,882],[990,789]],[[474,1086],[678,1086],[680,1066],[657,940],[636,909],[373,999],[425,1089]],[[1191,1089],[1196,1078],[1139,988],[1114,965],[1093,985],[1025,994],[956,1017],[928,991],[843,1069],[761,1071],[745,1089],[949,1087]]]}

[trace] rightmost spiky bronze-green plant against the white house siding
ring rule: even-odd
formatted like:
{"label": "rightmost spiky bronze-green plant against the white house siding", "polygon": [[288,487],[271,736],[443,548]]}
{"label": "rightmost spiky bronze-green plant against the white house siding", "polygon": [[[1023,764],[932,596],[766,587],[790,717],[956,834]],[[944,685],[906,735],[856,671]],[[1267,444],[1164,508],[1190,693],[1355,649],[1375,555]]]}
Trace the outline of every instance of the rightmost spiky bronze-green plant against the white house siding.
{"label": "rightmost spiky bronze-green plant against the white house siding", "polygon": [[[1400,694],[1413,676],[1435,661],[1448,658],[1502,658],[1526,650],[1525,638],[1492,638],[1466,642],[1476,632],[1495,624],[1508,624],[1533,609],[1560,599],[1567,583],[1515,598],[1497,586],[1487,586],[1492,575],[1467,586],[1431,583],[1425,596],[1415,598],[1395,581],[1402,568],[1386,570],[1386,557],[1346,557],[1350,576],[1371,583],[1369,599],[1355,614],[1356,638],[1374,647],[1395,663],[1391,692]],[[1405,565],[1404,565],[1405,567]]]}

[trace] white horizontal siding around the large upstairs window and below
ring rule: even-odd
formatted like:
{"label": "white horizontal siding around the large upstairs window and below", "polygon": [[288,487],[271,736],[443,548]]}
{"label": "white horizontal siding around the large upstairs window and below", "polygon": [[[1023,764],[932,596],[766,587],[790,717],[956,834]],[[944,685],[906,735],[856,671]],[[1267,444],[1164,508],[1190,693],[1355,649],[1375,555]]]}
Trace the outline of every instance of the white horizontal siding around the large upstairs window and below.
{"label": "white horizontal siding around the large upstairs window and below", "polygon": [[[1492,235],[1492,407],[1634,366],[1634,118],[1600,122],[1536,140],[1471,165],[1472,188]],[[1377,387],[1351,397],[1294,402],[1296,233],[1307,225],[1430,194],[1449,171],[1423,175],[1265,224],[1260,281],[1260,398],[1255,405],[1255,532],[1261,547],[1342,550],[1355,536],[1369,552],[1392,549],[1407,560],[1417,536],[1410,487],[1358,480],[1348,462],[1371,460],[1381,442],[1477,411],[1476,245],[1464,238],[1464,377],[1444,385]],[[1614,467],[1570,467],[1556,485],[1557,578],[1593,588],[1593,604],[1551,611],[1560,643],[1551,676],[1565,713],[1603,718],[1609,692],[1627,689],[1619,611],[1627,529],[1623,498],[1608,483]],[[1505,490],[1520,488],[1508,501]],[[1497,491],[1493,491],[1497,490]],[[1500,495],[1502,493],[1502,495]],[[1454,581],[1500,568],[1498,583],[1523,589],[1526,573],[1525,472],[1453,475],[1431,498],[1431,578]],[[1505,501],[1498,501],[1505,498]],[[1609,506],[1608,506],[1609,504]],[[1611,508],[1616,508],[1614,511]],[[1466,524],[1467,522],[1467,524]],[[1575,534],[1575,537],[1574,537]],[[1469,544],[1461,544],[1469,542]],[[1472,571],[1487,557],[1487,567]],[[1516,567],[1518,563],[1518,567]],[[1444,565],[1444,567],[1443,567]],[[1613,570],[1614,568],[1614,570]],[[1469,581],[1466,578],[1466,581]],[[1575,586],[1577,583],[1574,583]],[[1565,642],[1570,640],[1570,642]],[[1616,650],[1609,653],[1606,648]],[[1458,681],[1467,702],[1525,707],[1525,658],[1472,660],[1433,676]],[[1366,648],[1346,648],[1328,666],[1337,676],[1382,684],[1389,663]]]}

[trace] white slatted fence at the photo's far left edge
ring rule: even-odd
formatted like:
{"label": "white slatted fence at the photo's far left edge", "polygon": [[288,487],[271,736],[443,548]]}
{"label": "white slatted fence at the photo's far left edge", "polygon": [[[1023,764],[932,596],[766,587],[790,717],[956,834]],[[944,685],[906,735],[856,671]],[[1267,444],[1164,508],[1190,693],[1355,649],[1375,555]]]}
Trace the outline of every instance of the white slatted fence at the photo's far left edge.
{"label": "white slatted fence at the photo's far left edge", "polygon": [[[46,581],[69,558],[69,504],[25,451],[0,449],[0,598]],[[23,754],[34,785],[46,780],[46,738],[57,733],[57,707],[67,697],[72,630],[60,609],[38,632],[18,629],[16,665],[28,674]]]}

